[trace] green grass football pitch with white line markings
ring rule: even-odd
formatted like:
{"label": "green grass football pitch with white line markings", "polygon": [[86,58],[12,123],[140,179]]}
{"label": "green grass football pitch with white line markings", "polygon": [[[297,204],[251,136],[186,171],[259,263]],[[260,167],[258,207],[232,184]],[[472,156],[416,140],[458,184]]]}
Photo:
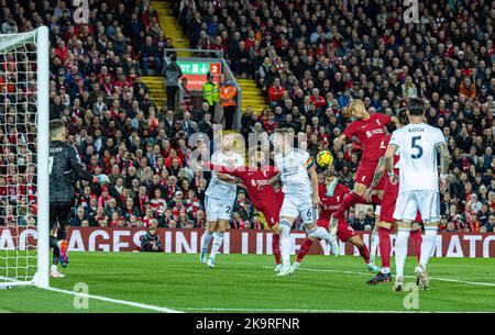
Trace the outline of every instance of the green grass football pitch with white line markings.
{"label": "green grass football pitch with white line markings", "polygon": [[[274,275],[272,256],[219,255],[215,269],[198,258],[72,253],[66,277],[51,279],[53,290],[0,290],[0,312],[495,312],[490,258],[432,258],[431,288],[418,292],[411,310],[404,300],[414,301],[415,292],[394,293],[392,282],[367,286],[372,275],[360,257],[309,255],[288,277]],[[407,275],[415,264],[409,257]],[[87,295],[74,295],[85,287]]]}

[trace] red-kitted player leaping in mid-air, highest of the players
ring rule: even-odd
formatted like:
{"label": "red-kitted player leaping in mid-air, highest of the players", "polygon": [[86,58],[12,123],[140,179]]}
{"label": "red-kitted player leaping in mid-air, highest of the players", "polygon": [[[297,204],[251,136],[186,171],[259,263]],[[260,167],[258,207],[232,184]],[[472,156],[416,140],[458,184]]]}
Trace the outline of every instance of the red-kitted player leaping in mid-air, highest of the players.
{"label": "red-kitted player leaping in mid-air, highest of the players", "polygon": [[[384,126],[391,122],[398,123],[397,118],[387,116],[381,113],[371,115],[362,100],[353,100],[345,109],[345,113],[358,120],[352,122],[345,131],[333,141],[336,149],[339,150],[345,143],[345,139],[354,137],[363,147],[361,163],[354,177],[354,188],[349,197],[342,201],[339,209],[333,214],[331,225],[338,224],[339,220],[345,216],[345,211],[355,203],[366,203],[363,198],[366,188],[371,185],[373,175],[380,160],[380,145],[383,141]],[[373,204],[380,204],[380,198],[374,194],[371,199]]]}

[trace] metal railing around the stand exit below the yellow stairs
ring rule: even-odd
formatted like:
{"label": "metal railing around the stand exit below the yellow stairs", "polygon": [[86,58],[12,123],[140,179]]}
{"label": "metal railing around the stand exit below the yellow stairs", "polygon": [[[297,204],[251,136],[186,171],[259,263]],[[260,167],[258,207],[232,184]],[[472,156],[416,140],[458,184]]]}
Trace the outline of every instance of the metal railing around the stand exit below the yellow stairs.
{"label": "metal railing around the stand exit below the yellow stairs", "polygon": [[[242,108],[242,90],[241,90],[241,86],[239,85],[238,80],[235,80],[235,76],[233,75],[232,70],[230,69],[229,64],[227,63],[227,60],[223,58],[223,52],[222,51],[210,51],[210,49],[196,49],[196,48],[165,48],[165,56],[164,56],[164,62],[165,64],[169,64],[170,59],[168,57],[168,55],[170,55],[172,53],[177,53],[177,52],[190,52],[193,54],[213,54],[213,56],[220,56],[220,57],[204,57],[204,56],[198,56],[198,57],[177,57],[177,60],[196,60],[197,58],[205,60],[205,62],[220,62],[222,65],[222,75],[224,80],[229,80],[233,83],[233,86],[235,87],[235,89],[238,90],[238,94],[235,96],[235,114],[233,118],[233,127],[235,130],[240,130],[241,129],[241,108]],[[162,74],[164,76],[164,74]],[[165,80],[164,80],[165,83]],[[179,82],[179,103],[183,101],[184,99],[184,88]]]}

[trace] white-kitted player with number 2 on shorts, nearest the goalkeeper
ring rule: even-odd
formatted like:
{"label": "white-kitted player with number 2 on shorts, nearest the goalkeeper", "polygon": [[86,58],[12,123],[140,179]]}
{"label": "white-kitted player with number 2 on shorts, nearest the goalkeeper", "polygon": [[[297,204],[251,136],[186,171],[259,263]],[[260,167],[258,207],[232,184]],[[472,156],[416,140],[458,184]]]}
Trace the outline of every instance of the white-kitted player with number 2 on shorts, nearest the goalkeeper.
{"label": "white-kitted player with number 2 on shorts, nearest the goalkeeper", "polygon": [[[211,163],[222,167],[239,167],[244,165],[241,155],[233,152],[233,136],[228,134],[222,138],[222,147],[211,155]],[[215,268],[215,257],[223,243],[223,235],[232,216],[232,209],[235,201],[238,187],[235,178],[229,175],[211,171],[211,179],[206,190],[205,210],[208,226],[201,237],[201,263],[207,263],[210,268]],[[208,245],[213,238],[211,253],[208,259],[206,254]]]}

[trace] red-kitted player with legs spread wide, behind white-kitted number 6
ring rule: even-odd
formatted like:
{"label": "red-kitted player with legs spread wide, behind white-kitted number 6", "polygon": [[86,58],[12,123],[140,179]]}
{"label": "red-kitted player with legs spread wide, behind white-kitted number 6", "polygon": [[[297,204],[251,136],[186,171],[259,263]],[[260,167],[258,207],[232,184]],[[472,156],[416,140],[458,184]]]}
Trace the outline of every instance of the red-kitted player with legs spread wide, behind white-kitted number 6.
{"label": "red-kitted player with legs spread wide, behind white-kitted number 6", "polygon": [[[324,176],[326,176],[326,183],[318,185],[322,205],[320,208],[317,224],[328,230],[331,215],[339,209],[342,201],[346,197],[350,197],[349,194],[351,194],[351,190],[346,186],[339,183],[338,178],[332,176],[332,174],[328,169],[324,171]],[[361,238],[360,235],[358,235],[358,233],[352,228],[352,226],[348,224],[345,219],[339,220],[336,234],[340,241],[349,242],[360,250],[360,255],[361,257],[363,257],[367,270],[373,272],[380,270],[380,268],[374,266],[370,260],[370,252],[366,245],[363,243],[363,239]],[[293,265],[292,268],[293,271],[299,268],[302,258],[309,252],[309,248],[311,247],[314,242],[315,238],[312,237],[307,237],[302,242],[299,252],[297,253],[296,261]]]}

